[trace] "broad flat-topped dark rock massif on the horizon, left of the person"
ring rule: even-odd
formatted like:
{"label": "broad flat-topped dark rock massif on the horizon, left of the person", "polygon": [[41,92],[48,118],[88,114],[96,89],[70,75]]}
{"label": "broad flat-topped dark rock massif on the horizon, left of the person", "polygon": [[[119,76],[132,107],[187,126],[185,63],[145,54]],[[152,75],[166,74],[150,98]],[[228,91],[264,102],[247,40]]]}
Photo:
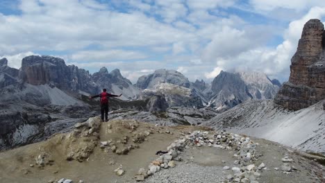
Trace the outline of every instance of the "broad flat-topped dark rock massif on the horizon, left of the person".
{"label": "broad flat-topped dark rock massif on the horizon, left of the person", "polygon": [[22,60],[20,78],[31,85],[54,85],[60,89],[97,92],[90,73],[72,65],[67,66],[61,58],[31,55]]}

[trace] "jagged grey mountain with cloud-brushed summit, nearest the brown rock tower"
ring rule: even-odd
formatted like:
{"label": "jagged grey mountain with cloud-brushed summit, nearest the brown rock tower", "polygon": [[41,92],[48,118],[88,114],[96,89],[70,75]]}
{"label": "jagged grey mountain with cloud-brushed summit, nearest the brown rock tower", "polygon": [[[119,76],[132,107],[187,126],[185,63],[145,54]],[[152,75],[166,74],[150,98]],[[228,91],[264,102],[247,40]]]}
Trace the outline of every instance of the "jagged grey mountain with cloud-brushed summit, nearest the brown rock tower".
{"label": "jagged grey mountain with cloud-brushed summit, nearest the brown rock tower", "polygon": [[208,106],[223,112],[251,99],[273,98],[278,88],[264,73],[221,71],[213,80],[210,89],[204,92],[210,98]]}

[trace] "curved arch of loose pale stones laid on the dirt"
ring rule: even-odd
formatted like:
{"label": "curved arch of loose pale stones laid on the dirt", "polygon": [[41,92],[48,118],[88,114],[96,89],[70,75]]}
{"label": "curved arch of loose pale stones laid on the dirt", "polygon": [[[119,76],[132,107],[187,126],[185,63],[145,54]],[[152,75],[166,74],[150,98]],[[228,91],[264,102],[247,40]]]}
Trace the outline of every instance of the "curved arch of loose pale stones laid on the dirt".
{"label": "curved arch of loose pale stones laid on the dirt", "polygon": [[[148,168],[140,168],[138,174],[135,175],[135,180],[143,181],[145,178],[157,173],[163,168],[173,168],[176,162],[181,161],[181,153],[183,150],[190,147],[209,146],[211,148],[222,148],[225,150],[235,150],[235,160],[231,170],[233,174],[226,177],[225,182],[252,182],[257,183],[260,173],[266,170],[265,164],[254,164],[259,155],[256,153],[258,143],[253,143],[249,137],[242,137],[239,134],[228,132],[203,132],[194,131],[189,134],[184,134],[181,139],[174,141],[167,147],[164,154],[160,154],[158,159],[149,164]],[[228,170],[230,167],[225,166]]]}

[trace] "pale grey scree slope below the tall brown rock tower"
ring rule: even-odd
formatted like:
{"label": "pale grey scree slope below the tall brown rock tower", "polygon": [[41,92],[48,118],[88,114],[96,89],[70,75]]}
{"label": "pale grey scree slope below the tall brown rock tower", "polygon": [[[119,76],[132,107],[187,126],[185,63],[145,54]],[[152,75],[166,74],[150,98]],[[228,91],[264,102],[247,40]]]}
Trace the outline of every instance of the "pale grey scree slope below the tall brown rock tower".
{"label": "pale grey scree slope below the tall brown rock tower", "polygon": [[272,100],[250,101],[217,114],[203,125],[325,154],[325,112],[322,101],[296,112],[286,110]]}

